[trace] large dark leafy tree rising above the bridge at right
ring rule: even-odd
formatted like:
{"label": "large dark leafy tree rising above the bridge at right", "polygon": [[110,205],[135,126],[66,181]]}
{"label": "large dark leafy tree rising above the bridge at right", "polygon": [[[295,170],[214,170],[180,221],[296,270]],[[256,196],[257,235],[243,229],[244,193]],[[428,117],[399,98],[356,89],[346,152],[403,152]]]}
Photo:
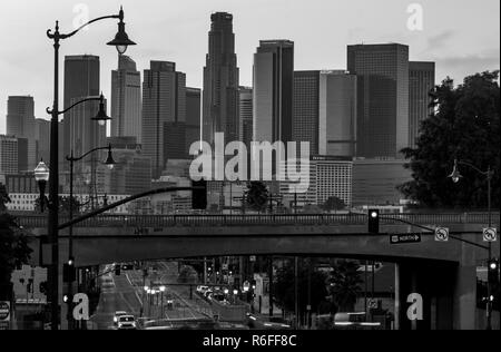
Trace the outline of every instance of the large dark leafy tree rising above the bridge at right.
{"label": "large dark leafy tree rising above the bridge at right", "polygon": [[399,189],[424,207],[482,208],[487,205],[485,177],[461,166],[462,182],[448,176],[454,159],[482,170],[491,166],[493,206],[500,198],[499,71],[466,77],[454,87],[448,78],[431,92],[434,113],[421,124],[415,148],[403,149],[413,180]]}

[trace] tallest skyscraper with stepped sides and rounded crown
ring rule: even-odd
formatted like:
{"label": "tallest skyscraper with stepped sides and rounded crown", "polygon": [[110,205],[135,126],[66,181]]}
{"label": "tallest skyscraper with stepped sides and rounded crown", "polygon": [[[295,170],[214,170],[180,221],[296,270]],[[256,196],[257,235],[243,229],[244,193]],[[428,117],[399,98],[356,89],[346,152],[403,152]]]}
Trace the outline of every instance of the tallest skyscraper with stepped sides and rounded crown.
{"label": "tallest skyscraper with stepped sides and rounded crown", "polygon": [[235,53],[233,16],[210,16],[208,55],[204,68],[204,140],[214,143],[216,133],[226,140],[238,140],[239,70]]}

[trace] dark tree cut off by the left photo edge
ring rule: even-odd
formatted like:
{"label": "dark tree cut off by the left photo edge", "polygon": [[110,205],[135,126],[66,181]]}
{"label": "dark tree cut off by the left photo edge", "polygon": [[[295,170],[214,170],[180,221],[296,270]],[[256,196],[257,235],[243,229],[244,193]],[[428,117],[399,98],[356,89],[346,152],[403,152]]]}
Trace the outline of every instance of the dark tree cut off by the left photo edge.
{"label": "dark tree cut off by the left photo edge", "polygon": [[0,185],[0,300],[11,299],[12,272],[27,264],[32,252],[24,232],[6,212],[6,204],[9,202],[6,187]]}

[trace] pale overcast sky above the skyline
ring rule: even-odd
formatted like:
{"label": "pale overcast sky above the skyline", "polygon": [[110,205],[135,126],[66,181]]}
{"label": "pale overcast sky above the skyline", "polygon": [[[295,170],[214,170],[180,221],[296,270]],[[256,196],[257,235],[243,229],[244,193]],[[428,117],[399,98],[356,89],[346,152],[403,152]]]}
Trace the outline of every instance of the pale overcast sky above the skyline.
{"label": "pale overcast sky above the skyline", "polygon": [[[423,30],[407,28],[407,7],[423,9]],[[253,53],[261,39],[295,41],[295,69],[343,69],[346,45],[402,42],[412,60],[436,61],[438,81],[500,67],[499,0],[1,0],[0,134],[6,131],[7,98],[35,97],[36,116],[48,118],[53,57],[46,31],[60,20],[73,28],[85,13],[100,17],[124,4],[127,31],[138,46],[128,55],[144,70],[149,60],[169,60],[187,74],[187,85],[202,88],[210,13],[234,14],[240,85],[252,85]],[[75,11],[75,12],[73,12]],[[415,22],[414,22],[415,23]],[[109,97],[110,71],[117,66],[116,21],[92,25],[62,42],[65,55],[101,58],[101,89]],[[62,68],[62,59],[61,59]],[[62,98],[62,85],[61,85]]]}

